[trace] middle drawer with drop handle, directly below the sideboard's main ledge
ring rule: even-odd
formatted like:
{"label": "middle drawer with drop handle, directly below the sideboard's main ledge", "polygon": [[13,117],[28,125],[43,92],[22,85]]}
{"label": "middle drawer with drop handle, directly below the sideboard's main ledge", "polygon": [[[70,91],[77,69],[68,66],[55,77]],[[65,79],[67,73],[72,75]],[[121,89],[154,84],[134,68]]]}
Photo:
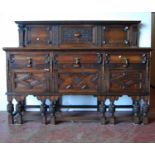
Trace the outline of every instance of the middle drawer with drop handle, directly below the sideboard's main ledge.
{"label": "middle drawer with drop handle, directly below the sideboard's main ledge", "polygon": [[[74,54],[75,53],[75,54]],[[55,54],[54,60],[60,68],[94,68],[102,63],[102,53],[64,52]]]}

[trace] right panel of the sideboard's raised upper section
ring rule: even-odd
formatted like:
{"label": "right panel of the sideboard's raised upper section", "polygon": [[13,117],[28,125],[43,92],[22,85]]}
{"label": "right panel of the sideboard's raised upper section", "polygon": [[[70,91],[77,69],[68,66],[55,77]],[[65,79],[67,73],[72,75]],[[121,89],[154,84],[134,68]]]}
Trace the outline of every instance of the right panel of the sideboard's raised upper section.
{"label": "right panel of the sideboard's raised upper section", "polygon": [[102,26],[102,46],[129,47],[137,46],[137,26],[107,25]]}

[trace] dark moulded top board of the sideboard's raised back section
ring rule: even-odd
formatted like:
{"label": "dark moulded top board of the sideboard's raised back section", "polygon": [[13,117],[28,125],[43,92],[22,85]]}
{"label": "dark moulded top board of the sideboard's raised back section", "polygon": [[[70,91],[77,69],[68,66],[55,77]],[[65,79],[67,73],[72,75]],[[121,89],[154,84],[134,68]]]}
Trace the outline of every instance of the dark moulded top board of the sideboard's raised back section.
{"label": "dark moulded top board of the sideboard's raised back section", "polygon": [[139,24],[141,21],[129,20],[53,20],[53,21],[15,21],[16,24],[23,25],[76,25],[76,24],[95,24],[95,25],[111,25],[111,24]]}

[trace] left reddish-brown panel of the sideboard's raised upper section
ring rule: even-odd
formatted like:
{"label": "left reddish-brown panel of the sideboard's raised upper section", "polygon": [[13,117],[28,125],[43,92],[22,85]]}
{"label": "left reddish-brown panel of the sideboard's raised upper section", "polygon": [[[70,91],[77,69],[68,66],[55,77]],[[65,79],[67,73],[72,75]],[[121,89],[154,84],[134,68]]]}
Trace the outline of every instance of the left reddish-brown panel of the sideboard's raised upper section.
{"label": "left reddish-brown panel of the sideboard's raised upper section", "polygon": [[52,46],[52,26],[31,25],[25,29],[25,46]]}

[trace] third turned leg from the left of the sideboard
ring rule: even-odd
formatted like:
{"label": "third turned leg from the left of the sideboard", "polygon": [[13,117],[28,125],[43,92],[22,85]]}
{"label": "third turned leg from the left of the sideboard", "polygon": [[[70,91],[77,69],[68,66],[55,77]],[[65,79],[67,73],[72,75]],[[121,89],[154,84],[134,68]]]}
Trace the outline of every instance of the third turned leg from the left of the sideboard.
{"label": "third turned leg from the left of the sideboard", "polygon": [[46,105],[46,100],[42,101],[42,104],[40,106],[40,112],[42,115],[42,123],[47,124],[47,105]]}

